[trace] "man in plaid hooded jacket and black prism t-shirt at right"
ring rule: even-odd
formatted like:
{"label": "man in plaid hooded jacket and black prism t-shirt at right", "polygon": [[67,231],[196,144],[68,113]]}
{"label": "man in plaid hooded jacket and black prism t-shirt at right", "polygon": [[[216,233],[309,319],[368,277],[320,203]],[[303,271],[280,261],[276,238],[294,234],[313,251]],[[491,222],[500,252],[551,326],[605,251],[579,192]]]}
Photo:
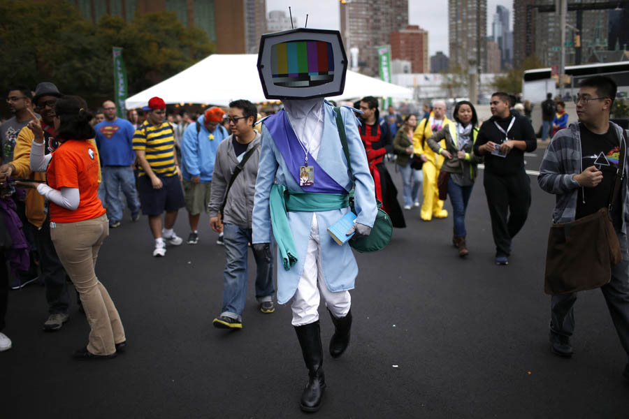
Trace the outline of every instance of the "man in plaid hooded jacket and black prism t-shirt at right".
{"label": "man in plaid hooded jacket and black prism t-shirt at right", "polygon": [[[629,131],[609,121],[609,110],[616,97],[616,83],[597,75],[581,82],[577,103],[579,122],[558,131],[551,140],[537,182],[544,191],[557,196],[554,223],[569,223],[607,207],[612,197],[616,172],[623,166],[621,149],[626,151]],[[600,290],[621,344],[629,355],[629,193],[627,175],[629,156],[625,153],[621,193],[612,203],[612,224],[620,243],[622,261],[612,266],[608,284]],[[570,337],[574,332],[576,293],[551,297],[549,340],[551,351],[572,356]],[[623,376],[629,380],[629,363]]]}

